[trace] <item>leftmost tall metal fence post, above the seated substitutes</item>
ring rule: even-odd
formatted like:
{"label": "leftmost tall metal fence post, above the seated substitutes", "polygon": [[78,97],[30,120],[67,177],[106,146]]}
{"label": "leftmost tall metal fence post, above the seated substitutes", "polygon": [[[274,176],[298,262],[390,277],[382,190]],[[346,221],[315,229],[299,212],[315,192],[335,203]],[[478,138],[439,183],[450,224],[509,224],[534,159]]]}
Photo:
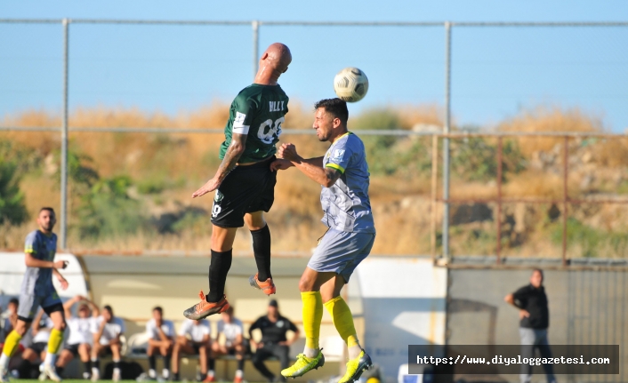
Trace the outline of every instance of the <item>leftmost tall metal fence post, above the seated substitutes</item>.
{"label": "leftmost tall metal fence post, above the seated substitutes", "polygon": [[63,111],[61,112],[61,217],[60,248],[67,248],[68,239],[68,39],[69,20],[63,19]]}

